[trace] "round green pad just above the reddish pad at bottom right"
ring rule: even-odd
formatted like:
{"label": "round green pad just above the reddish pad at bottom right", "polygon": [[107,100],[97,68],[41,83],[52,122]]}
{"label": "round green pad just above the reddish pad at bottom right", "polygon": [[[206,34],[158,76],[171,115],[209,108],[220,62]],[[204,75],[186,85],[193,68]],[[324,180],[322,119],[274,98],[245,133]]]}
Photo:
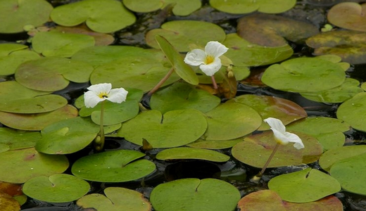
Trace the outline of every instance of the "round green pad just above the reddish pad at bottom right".
{"label": "round green pad just above the reddish pad at bottom right", "polygon": [[274,177],[268,188],[293,203],[308,203],[341,191],[336,179],[311,168]]}

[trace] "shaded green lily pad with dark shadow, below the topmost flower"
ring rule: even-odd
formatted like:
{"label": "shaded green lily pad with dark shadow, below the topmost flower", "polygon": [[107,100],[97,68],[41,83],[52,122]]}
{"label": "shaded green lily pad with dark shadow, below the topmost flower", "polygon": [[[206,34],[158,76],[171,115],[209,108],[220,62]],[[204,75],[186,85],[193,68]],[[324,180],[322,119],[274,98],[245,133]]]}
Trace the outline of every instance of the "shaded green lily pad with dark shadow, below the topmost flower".
{"label": "shaded green lily pad with dark shadow, below the topmost flower", "polygon": [[151,96],[150,107],[166,113],[170,110],[196,109],[205,113],[220,104],[220,98],[187,83],[176,82]]}

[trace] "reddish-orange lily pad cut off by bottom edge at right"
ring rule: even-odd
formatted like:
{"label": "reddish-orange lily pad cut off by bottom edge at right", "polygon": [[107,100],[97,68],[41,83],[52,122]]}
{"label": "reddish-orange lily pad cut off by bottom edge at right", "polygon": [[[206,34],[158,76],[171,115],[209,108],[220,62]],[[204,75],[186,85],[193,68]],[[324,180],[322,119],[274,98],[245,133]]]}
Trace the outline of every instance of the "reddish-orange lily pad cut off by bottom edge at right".
{"label": "reddish-orange lily pad cut off by bottom edge at right", "polygon": [[240,211],[343,211],[341,200],[335,196],[327,196],[310,203],[289,203],[271,190],[249,193],[239,200],[238,207]]}

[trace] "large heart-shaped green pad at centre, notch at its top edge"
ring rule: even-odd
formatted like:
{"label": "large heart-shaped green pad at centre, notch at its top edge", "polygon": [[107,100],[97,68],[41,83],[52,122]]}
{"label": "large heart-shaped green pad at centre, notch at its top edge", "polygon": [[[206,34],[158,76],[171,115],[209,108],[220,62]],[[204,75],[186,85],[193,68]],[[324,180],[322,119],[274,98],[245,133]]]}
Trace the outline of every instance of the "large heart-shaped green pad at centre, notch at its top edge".
{"label": "large heart-shaped green pad at centre, notch at its top edge", "polygon": [[206,119],[198,110],[171,110],[164,115],[147,110],[123,123],[118,136],[140,146],[146,139],[153,148],[171,148],[196,141],[206,129]]}

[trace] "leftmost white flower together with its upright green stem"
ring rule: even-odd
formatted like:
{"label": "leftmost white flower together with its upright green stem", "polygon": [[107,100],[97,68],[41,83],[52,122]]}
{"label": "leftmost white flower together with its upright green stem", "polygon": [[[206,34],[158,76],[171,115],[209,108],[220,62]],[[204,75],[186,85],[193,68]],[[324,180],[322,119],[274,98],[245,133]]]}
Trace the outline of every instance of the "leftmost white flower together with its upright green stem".
{"label": "leftmost white flower together with its upright green stem", "polygon": [[101,102],[101,121],[99,136],[96,137],[95,148],[96,151],[101,151],[104,146],[104,129],[103,129],[103,112],[104,101],[108,100],[113,103],[122,103],[126,101],[128,91],[123,88],[112,89],[112,84],[94,84],[88,87],[87,92],[84,93],[84,103],[87,108],[94,108]]}

